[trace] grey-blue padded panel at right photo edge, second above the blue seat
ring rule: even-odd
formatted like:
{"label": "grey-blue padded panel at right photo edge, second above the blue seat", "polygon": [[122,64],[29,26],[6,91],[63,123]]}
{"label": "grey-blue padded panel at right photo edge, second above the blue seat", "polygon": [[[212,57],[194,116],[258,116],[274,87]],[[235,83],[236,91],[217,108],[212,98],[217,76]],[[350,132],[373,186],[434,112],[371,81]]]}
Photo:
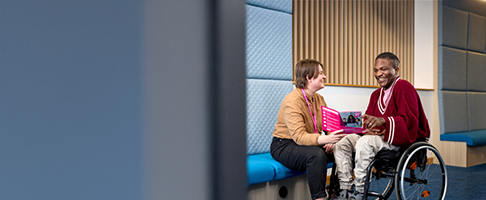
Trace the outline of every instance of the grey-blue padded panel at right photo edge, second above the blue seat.
{"label": "grey-blue padded panel at right photo edge, second above the blue seat", "polygon": [[486,91],[486,54],[468,52],[467,90]]}

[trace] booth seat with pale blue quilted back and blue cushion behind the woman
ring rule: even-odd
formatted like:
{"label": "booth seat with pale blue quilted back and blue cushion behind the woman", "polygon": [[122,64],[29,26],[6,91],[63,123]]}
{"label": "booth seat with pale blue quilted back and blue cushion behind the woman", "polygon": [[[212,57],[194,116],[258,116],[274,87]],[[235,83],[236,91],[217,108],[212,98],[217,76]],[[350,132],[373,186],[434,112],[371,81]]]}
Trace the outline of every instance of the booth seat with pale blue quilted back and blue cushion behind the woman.
{"label": "booth seat with pale blue quilted back and blue cushion behind the woman", "polygon": [[270,155],[280,104],[294,89],[292,0],[248,0],[246,7],[248,199],[310,200],[305,172]]}

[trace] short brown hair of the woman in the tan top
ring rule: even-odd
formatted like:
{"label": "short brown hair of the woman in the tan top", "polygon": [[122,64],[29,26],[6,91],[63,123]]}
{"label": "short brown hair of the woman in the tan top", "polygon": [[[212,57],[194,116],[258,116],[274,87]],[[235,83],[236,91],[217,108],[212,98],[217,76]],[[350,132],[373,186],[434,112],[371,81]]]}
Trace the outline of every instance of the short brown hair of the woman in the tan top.
{"label": "short brown hair of the woman in the tan top", "polygon": [[318,67],[323,66],[317,60],[299,60],[299,62],[295,64],[295,87],[305,88],[305,86],[307,86],[307,76],[309,76],[309,78],[317,78],[319,76]]}

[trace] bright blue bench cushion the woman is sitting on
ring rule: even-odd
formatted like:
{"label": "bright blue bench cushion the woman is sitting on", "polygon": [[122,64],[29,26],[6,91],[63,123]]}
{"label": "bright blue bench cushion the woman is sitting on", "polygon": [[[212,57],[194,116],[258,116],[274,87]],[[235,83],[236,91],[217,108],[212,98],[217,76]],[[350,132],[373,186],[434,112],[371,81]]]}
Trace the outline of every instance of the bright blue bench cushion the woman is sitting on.
{"label": "bright blue bench cushion the woman is sitting on", "polygon": [[[272,158],[270,153],[249,155],[246,160],[248,184],[264,183],[305,174],[305,171],[291,170]],[[328,163],[331,168],[333,163]]]}

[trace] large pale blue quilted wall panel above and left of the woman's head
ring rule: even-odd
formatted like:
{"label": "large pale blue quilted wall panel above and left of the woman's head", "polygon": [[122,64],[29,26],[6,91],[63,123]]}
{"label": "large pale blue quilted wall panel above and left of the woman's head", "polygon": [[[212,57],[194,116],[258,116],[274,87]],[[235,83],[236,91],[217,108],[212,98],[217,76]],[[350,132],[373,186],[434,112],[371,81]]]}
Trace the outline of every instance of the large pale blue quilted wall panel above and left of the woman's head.
{"label": "large pale blue quilted wall panel above and left of the woman's head", "polygon": [[247,5],[247,78],[292,80],[292,15]]}

